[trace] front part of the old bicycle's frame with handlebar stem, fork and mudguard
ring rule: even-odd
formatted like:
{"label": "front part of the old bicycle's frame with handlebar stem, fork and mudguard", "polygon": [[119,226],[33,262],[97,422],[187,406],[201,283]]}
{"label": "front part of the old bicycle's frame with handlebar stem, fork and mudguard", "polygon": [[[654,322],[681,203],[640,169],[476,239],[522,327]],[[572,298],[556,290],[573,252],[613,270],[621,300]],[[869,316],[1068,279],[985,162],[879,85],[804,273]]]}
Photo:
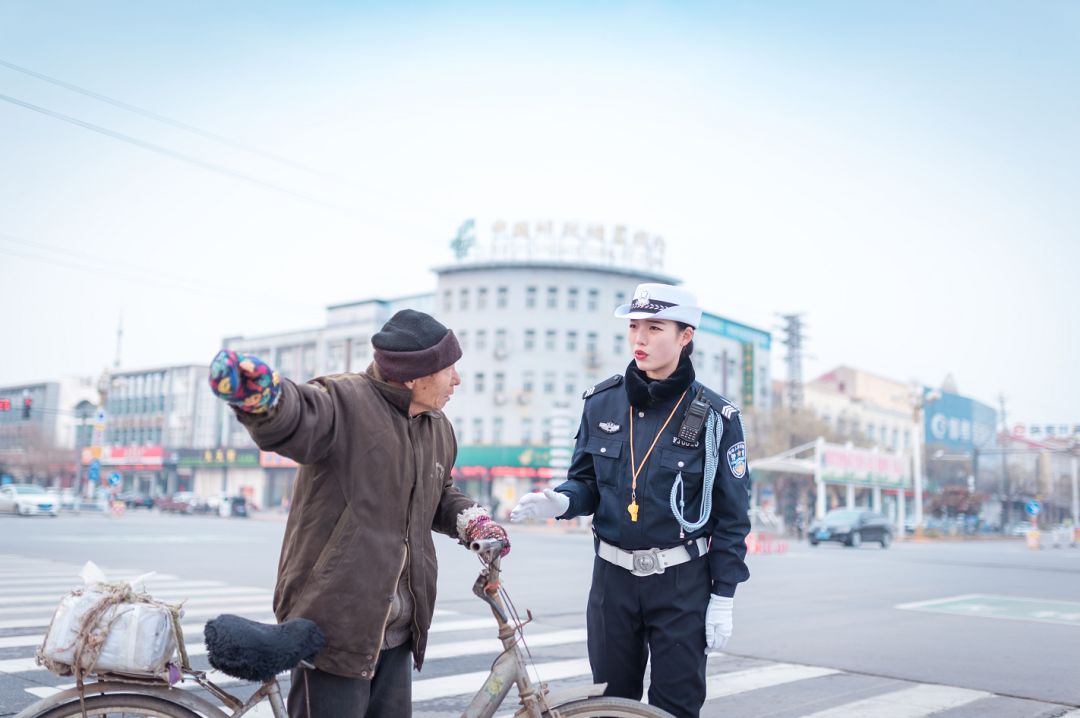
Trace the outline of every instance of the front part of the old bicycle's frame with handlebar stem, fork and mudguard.
{"label": "front part of the old bicycle's frame with handlebar stem, fork and mudguard", "polygon": [[[473,545],[473,551],[482,553],[476,544]],[[553,706],[567,701],[600,695],[605,689],[603,683],[571,688],[558,691],[557,694],[550,692],[545,683],[532,685],[525,655],[518,645],[516,628],[510,623],[502,598],[498,593],[499,574],[499,556],[496,554],[476,577],[476,582],[473,583],[473,593],[490,607],[496,623],[499,625],[499,640],[502,641],[503,651],[491,665],[491,672],[484,681],[484,686],[473,696],[469,707],[461,714],[461,718],[492,718],[514,686],[517,687],[522,704],[522,708],[514,715],[523,718],[526,716],[528,718],[542,718],[544,712],[550,712]],[[532,621],[532,612],[526,611],[526,614],[528,619],[525,623],[529,623]]]}

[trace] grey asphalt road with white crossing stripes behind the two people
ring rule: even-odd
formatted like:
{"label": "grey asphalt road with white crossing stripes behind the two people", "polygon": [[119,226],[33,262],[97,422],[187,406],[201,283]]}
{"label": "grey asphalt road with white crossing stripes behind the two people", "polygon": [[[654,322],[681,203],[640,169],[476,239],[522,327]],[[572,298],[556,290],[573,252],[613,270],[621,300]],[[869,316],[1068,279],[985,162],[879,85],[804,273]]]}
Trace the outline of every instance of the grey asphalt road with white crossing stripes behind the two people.
{"label": "grey asphalt road with white crossing stripes behind the two people", "polygon": [[[272,620],[283,529],[274,519],[149,512],[0,517],[0,716],[71,682],[32,654],[86,560],[117,577],[158,571],[156,595],[189,599],[192,662],[206,667],[199,637],[208,618]],[[553,686],[590,682],[590,537],[515,527],[512,538],[505,584],[517,609],[536,617],[526,637],[540,675]],[[436,546],[438,613],[414,683],[422,718],[459,715],[496,654],[490,614],[470,593],[475,557],[449,539]],[[710,659],[703,716],[1080,718],[1080,548],[792,544],[750,564],[734,636]]]}

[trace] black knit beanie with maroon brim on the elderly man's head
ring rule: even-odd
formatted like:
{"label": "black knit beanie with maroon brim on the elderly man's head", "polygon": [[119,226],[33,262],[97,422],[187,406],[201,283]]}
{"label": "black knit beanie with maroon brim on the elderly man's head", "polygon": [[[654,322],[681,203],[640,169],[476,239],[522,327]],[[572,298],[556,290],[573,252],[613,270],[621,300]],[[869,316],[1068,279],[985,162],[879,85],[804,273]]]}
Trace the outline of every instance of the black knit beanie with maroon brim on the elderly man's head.
{"label": "black knit beanie with maroon brim on the elderly man's head", "polygon": [[461,358],[454,333],[430,314],[403,309],[372,336],[382,376],[399,383],[427,377]]}

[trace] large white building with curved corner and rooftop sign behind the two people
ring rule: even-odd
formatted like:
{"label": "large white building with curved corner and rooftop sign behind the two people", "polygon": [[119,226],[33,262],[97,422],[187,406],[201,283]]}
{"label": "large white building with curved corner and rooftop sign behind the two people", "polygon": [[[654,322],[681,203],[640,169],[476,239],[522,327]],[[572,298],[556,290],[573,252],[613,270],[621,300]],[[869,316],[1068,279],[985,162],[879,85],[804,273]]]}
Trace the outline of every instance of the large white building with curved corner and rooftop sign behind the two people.
{"label": "large white building with curved corner and rooftop sign behind the two people", "polygon": [[[625,370],[626,322],[615,308],[638,283],[678,280],[663,272],[662,240],[621,226],[495,222],[478,241],[473,230],[467,222],[451,243],[456,258],[435,268],[431,294],[329,307],[323,327],[231,337],[225,346],[305,381],[363,371],[370,335],[400,309],[434,315],[464,352],[462,383],[446,407],[459,442],[455,475],[505,510],[565,471],[582,393]],[[767,407],[770,351],[768,331],[705,312],[693,361],[698,377],[737,405]],[[222,446],[252,446],[231,412],[220,417]],[[268,478],[271,503],[287,496],[282,480]]]}

